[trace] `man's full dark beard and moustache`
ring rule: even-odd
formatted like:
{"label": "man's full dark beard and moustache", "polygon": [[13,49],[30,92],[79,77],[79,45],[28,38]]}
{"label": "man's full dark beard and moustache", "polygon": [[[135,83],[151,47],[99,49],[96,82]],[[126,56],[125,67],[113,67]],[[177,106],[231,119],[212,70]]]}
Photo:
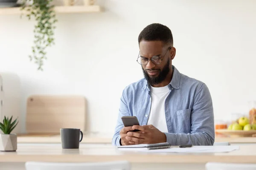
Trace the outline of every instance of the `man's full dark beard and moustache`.
{"label": "man's full dark beard and moustache", "polygon": [[163,82],[163,80],[165,80],[166,76],[169,74],[169,71],[170,71],[169,65],[170,65],[170,59],[168,59],[162,71],[160,69],[151,69],[150,71],[159,71],[159,75],[157,77],[149,77],[148,73],[142,67],[145,79],[148,81],[150,85],[157,85]]}

